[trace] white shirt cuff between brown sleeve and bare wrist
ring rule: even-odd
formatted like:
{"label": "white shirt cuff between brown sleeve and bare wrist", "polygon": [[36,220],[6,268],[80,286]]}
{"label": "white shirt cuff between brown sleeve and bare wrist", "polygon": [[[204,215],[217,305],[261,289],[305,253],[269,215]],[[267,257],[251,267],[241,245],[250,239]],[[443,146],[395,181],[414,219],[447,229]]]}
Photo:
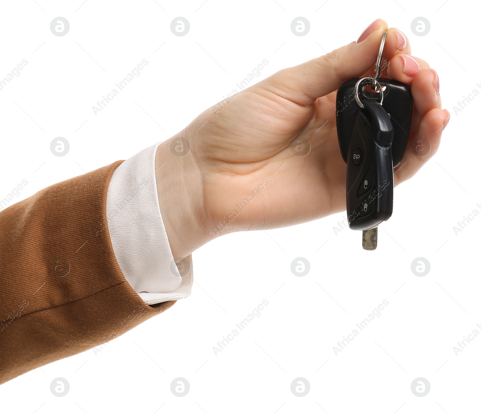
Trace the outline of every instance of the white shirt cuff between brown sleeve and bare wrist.
{"label": "white shirt cuff between brown sleeve and bare wrist", "polygon": [[158,142],[121,163],[107,191],[107,225],[127,282],[147,304],[190,295],[192,269],[180,276],[160,213],[155,182]]}

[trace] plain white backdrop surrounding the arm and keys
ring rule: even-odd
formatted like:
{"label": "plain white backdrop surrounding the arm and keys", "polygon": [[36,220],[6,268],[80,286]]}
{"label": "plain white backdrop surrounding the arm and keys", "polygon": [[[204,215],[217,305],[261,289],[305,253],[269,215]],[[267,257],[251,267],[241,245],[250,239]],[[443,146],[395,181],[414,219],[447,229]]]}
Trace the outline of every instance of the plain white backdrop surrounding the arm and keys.
{"label": "plain white backdrop surrounding the arm and keys", "polygon": [[[453,226],[473,209],[481,212],[476,206],[481,203],[481,97],[457,114],[453,107],[473,89],[481,91],[476,51],[481,13],[475,2],[443,1],[2,3],[0,78],[22,59],[28,64],[0,91],[0,199],[22,179],[28,185],[15,201],[126,159],[177,133],[263,59],[269,63],[256,80],[356,40],[378,17],[404,31],[413,55],[437,70],[451,121],[438,153],[395,189],[394,213],[380,226],[376,251],[362,250],[360,232],[335,234],[333,226],[345,213],[216,239],[193,254],[189,298],[101,351],[83,352],[2,385],[1,411],[451,414],[477,409],[481,338],[457,356],[453,347],[481,324],[481,216],[457,235]],[[63,37],[50,31],[57,16],[70,23]],[[190,22],[184,37],[170,31],[177,16]],[[304,37],[290,29],[298,16],[311,24]],[[423,37],[411,32],[418,16],[431,25]],[[142,59],[149,64],[141,75],[95,115],[92,106]],[[55,137],[69,141],[66,156],[52,155]],[[307,276],[291,273],[297,257],[309,261]],[[424,277],[411,272],[418,257],[430,262]],[[215,356],[217,341],[264,299],[269,304],[261,316]],[[336,356],[337,341],[384,299],[389,305],[381,316]],[[70,383],[65,397],[50,391],[56,377]],[[190,382],[187,396],[170,391],[176,377]],[[291,392],[296,377],[310,383],[305,397]],[[430,382],[425,397],[411,392],[417,377]]]}

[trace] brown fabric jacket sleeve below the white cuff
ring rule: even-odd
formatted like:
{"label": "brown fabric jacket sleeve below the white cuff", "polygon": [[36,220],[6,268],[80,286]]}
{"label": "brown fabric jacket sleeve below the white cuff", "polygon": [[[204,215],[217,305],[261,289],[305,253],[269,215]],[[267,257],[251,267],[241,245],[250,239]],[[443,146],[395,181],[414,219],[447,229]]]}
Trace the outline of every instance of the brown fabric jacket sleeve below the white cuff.
{"label": "brown fabric jacket sleeve below the white cuff", "polygon": [[120,163],[0,212],[0,384],[114,339],[175,303],[147,305],[115,259],[106,200]]}

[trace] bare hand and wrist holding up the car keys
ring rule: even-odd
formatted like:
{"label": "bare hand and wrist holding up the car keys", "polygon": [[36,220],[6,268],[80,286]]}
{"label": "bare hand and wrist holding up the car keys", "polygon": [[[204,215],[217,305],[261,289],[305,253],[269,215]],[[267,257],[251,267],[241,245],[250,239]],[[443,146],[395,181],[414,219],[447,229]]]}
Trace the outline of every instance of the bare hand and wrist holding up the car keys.
{"label": "bare hand and wrist holding up the car keys", "polygon": [[[232,231],[290,226],[345,210],[336,90],[346,79],[373,75],[385,30],[386,22],[375,21],[357,42],[242,90],[159,146],[159,203],[174,257]],[[380,77],[409,85],[414,98],[410,139],[394,170],[395,185],[437,151],[449,120],[441,109],[438,75],[410,52],[407,38],[389,29],[383,51],[389,64]],[[307,155],[291,150],[296,138],[309,141]],[[171,146],[182,150],[185,140],[190,151],[174,155]]]}

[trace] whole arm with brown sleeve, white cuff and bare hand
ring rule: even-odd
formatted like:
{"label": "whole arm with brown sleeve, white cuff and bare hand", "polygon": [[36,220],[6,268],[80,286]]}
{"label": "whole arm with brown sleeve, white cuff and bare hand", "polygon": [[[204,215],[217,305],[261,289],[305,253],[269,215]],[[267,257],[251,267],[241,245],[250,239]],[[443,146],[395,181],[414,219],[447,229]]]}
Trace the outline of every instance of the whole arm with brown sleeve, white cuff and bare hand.
{"label": "whole arm with brown sleeve, white cuff and bare hand", "polygon": [[[153,210],[138,199],[134,213],[108,214],[115,211],[109,193],[122,200],[129,194],[122,183],[142,182],[135,165],[116,162],[2,211],[0,311],[6,318],[0,324],[0,382],[106,342],[165,311],[172,299],[190,293],[192,283],[176,266],[170,274],[165,268],[185,267],[182,258],[209,240],[344,210],[346,167],[336,136],[335,91],[343,80],[371,73],[386,29],[382,20],[374,22],[357,42],[238,91],[151,147],[155,180],[152,174],[147,184]],[[407,57],[407,40],[404,46],[398,41],[389,29],[383,52],[389,65],[381,76],[411,87],[415,113],[395,184],[437,151],[449,120],[436,73]],[[301,157],[291,150],[296,138],[309,142]],[[418,153],[419,140],[429,142],[428,154]],[[162,217],[152,234],[161,236],[136,233],[142,226],[150,232],[146,223],[156,213]],[[146,245],[152,250],[143,256]],[[144,267],[151,259],[153,265]],[[166,273],[160,271],[159,280],[149,277],[159,266]],[[172,294],[172,288],[179,290]]]}

